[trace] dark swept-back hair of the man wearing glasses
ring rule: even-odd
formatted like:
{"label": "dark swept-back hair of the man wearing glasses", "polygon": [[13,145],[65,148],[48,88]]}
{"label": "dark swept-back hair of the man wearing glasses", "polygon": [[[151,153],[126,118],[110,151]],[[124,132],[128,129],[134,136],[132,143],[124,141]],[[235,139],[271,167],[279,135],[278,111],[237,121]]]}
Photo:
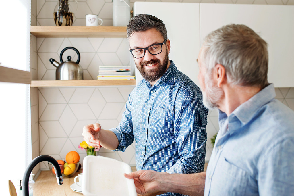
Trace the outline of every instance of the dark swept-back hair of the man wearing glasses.
{"label": "dark swept-back hair of the man wearing glasses", "polygon": [[133,32],[143,32],[149,29],[156,29],[158,32],[161,33],[164,40],[167,39],[166,27],[163,24],[162,20],[149,14],[138,14],[131,18],[127,26],[128,43]]}

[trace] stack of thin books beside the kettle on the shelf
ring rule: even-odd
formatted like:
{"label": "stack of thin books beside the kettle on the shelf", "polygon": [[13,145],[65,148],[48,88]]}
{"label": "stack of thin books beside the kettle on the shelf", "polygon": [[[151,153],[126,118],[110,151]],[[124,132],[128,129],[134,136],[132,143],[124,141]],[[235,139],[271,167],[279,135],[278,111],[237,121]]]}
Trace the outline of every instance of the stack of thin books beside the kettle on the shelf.
{"label": "stack of thin books beside the kettle on the shelf", "polygon": [[131,80],[131,66],[99,66],[98,80]]}

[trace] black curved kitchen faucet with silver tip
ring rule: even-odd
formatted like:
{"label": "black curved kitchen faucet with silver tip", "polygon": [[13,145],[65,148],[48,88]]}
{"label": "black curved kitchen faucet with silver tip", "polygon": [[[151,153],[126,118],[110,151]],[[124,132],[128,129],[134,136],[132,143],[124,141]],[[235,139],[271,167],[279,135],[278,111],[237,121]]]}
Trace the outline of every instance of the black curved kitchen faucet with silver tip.
{"label": "black curved kitchen faucet with silver tip", "polygon": [[24,177],[22,182],[23,184],[23,193],[24,196],[29,196],[29,177],[31,172],[33,171],[33,168],[42,161],[48,161],[50,162],[55,170],[56,173],[56,179],[57,179],[57,184],[62,185],[63,184],[63,179],[62,179],[62,173],[61,173],[61,169],[59,167],[58,162],[51,156],[49,155],[41,155],[39,157],[36,157],[32,160],[32,162],[28,165],[28,167],[26,168],[26,171],[24,172]]}

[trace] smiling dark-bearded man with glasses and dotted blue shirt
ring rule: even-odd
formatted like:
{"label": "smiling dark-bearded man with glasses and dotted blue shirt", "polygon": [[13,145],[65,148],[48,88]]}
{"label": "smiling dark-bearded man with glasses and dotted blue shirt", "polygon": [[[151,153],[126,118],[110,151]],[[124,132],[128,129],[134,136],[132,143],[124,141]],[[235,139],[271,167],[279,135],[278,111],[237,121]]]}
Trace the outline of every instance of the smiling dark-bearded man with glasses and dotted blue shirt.
{"label": "smiling dark-bearded man with glasses and dotted blue shirt", "polygon": [[203,172],[208,109],[200,88],[169,60],[165,25],[155,16],[136,15],[127,26],[127,39],[143,80],[129,95],[119,125],[110,130],[87,125],[84,140],[125,151],[135,139],[137,170]]}

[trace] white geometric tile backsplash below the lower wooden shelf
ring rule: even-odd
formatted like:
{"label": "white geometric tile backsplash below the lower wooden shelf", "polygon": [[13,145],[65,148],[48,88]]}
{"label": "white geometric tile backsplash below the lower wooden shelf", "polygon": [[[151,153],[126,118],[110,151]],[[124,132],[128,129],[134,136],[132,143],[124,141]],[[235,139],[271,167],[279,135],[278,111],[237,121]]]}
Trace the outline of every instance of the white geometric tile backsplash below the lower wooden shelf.
{"label": "white geometric tile backsplash below the lower wooden shelf", "polygon": [[[116,127],[121,120],[128,94],[133,87],[39,88],[40,154],[64,159],[66,152],[78,149],[82,129],[99,122],[103,129]],[[123,93],[121,93],[123,92]],[[119,154],[106,149],[98,153],[135,165],[134,145]],[[128,157],[128,158],[127,158]],[[44,167],[44,168],[43,168]],[[46,169],[45,164],[41,168]]]}

